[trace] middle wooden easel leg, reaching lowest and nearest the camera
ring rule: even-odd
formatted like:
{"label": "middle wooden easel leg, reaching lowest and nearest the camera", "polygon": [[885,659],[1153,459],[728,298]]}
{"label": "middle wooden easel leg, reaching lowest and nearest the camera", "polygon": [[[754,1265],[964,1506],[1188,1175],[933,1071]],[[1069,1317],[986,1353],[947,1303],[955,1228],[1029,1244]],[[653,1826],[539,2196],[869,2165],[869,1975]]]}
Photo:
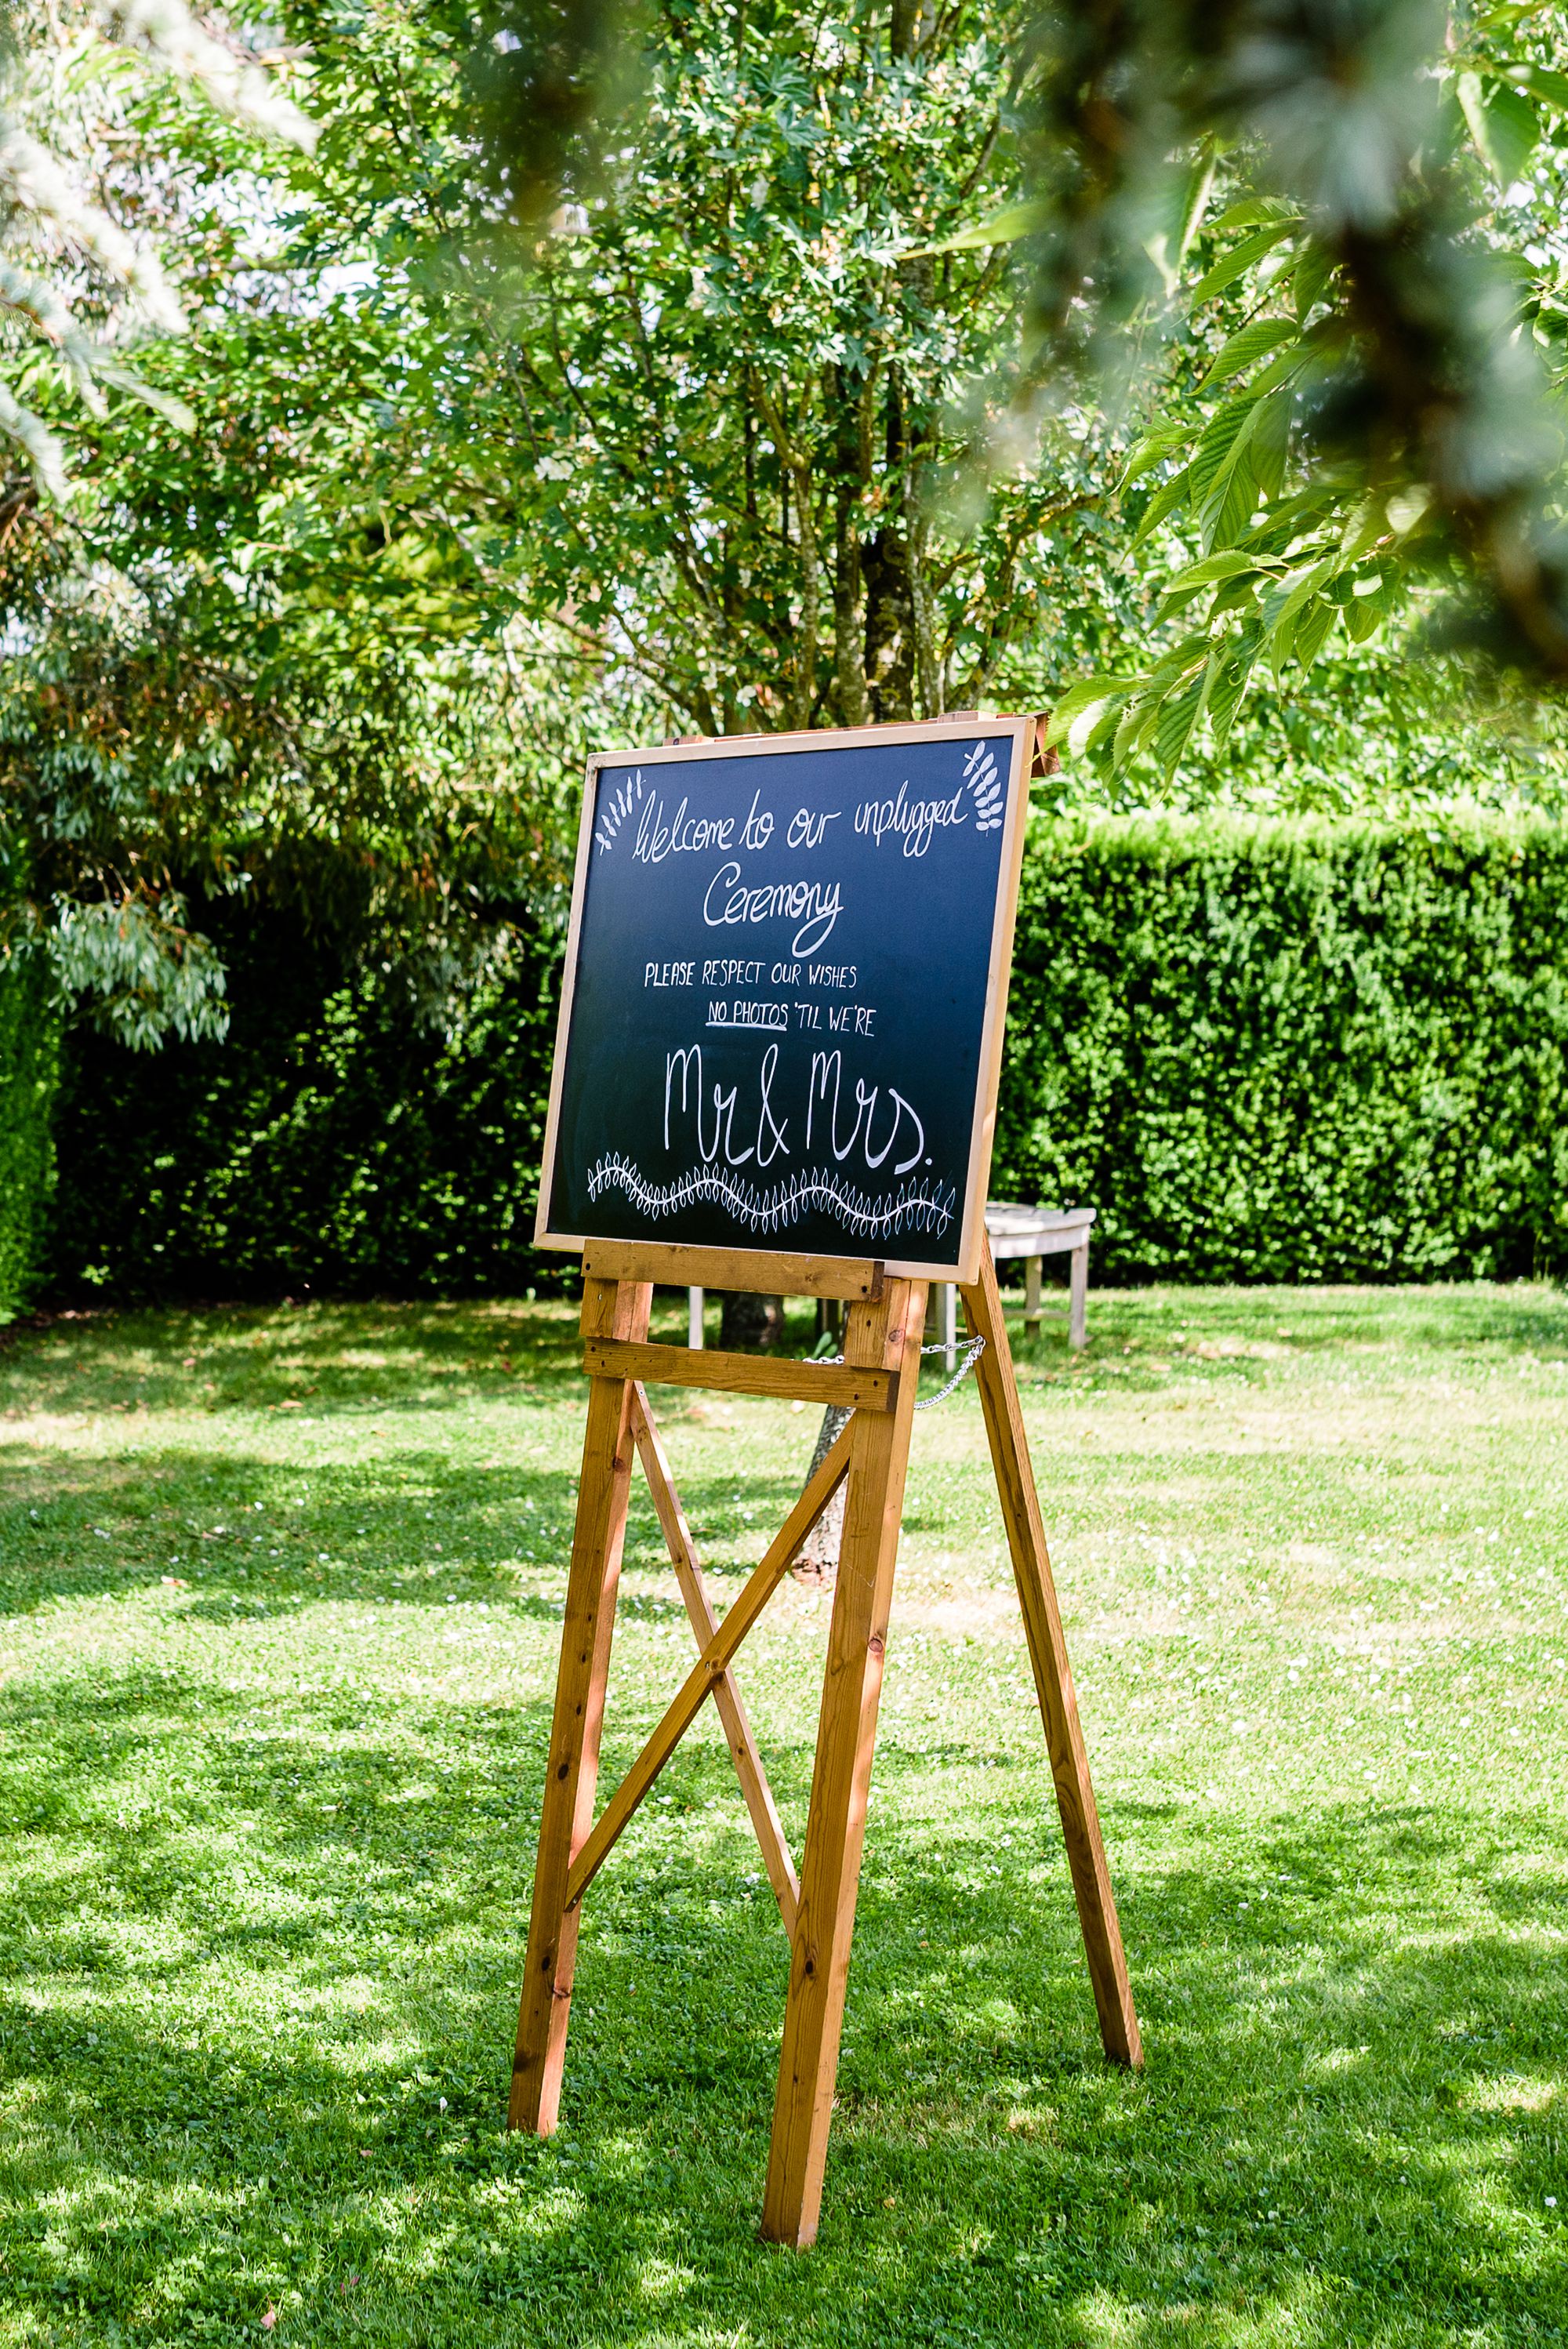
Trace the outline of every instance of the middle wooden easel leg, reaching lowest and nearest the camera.
{"label": "middle wooden easel leg, reaching lowest and nearest the camera", "polygon": [[880,1304],[850,1308],[845,1334],[850,1362],[897,1360],[901,1377],[892,1412],[861,1412],[854,1421],[800,1863],[800,1910],[789,1952],[763,2236],[796,2250],[817,2239],[822,2210],[922,1327],[925,1283],[890,1280]]}

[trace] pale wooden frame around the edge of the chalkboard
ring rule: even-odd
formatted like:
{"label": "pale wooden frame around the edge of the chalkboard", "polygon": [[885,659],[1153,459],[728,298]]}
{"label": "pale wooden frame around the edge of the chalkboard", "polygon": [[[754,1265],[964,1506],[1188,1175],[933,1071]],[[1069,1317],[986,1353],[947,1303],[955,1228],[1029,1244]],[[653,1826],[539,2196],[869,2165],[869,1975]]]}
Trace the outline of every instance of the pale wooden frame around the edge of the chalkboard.
{"label": "pale wooden frame around the edge of the chalkboard", "polygon": [[[995,1095],[1002,1073],[1002,1029],[1007,1022],[1007,980],[1012,972],[1012,933],[1019,911],[1019,874],[1023,869],[1023,834],[1028,829],[1028,770],[1035,747],[1035,716],[948,716],[922,719],[908,726],[824,726],[807,733],[777,735],[709,735],[695,742],[664,742],[660,749],[606,749],[594,752],[587,763],[582,787],[582,822],[577,827],[577,864],[573,869],[573,911],[566,933],[566,965],[561,977],[561,1010],[556,1015],[556,1052],[549,1071],[549,1113],[545,1118],[545,1160],[540,1167],[540,1205],[533,1224],[535,1247],[559,1247],[582,1254],[592,1245],[589,1233],[549,1229],[549,1193],[556,1172],[556,1125],[561,1116],[561,1085],[566,1078],[566,1041],[570,1034],[573,996],[577,991],[577,933],[582,928],[582,897],[587,888],[589,846],[594,839],[594,808],[599,801],[599,773],[606,766],[674,766],[699,759],[770,759],[791,749],[852,749],[857,742],[972,742],[976,735],[1012,742],[1007,763],[1007,820],[1002,829],[1002,860],[998,867],[998,895],[991,921],[991,965],[986,972],[986,1015],[981,1022],[981,1052],[974,1083],[974,1120],[969,1125],[969,1174],[965,1186],[965,1224],[958,1245],[958,1264],[930,1264],[913,1257],[887,1257],[890,1273],[911,1280],[958,1280],[974,1285],[979,1278],[981,1247],[986,1238],[986,1177],[991,1172],[991,1144],[995,1139]],[[730,1252],[728,1252],[730,1254]],[[737,1257],[763,1266],[786,1250],[756,1247],[732,1250]],[[850,1250],[833,1252],[824,1261],[850,1257]]]}

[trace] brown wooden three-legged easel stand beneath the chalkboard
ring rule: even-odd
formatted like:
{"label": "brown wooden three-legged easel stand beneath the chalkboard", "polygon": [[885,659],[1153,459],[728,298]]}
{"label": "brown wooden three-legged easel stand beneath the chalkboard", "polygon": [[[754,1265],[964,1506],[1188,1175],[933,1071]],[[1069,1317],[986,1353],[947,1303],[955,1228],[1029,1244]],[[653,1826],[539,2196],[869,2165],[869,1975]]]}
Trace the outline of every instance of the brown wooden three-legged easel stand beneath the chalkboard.
{"label": "brown wooden three-legged easel stand beneath the chalkboard", "polygon": [[[589,1240],[582,1276],[589,1409],[507,2123],[538,2135],[549,2135],[556,2126],[582,1896],[711,1694],[791,1943],[763,2236],[805,2248],[817,2236],[822,2208],[927,1283],[885,1276],[880,1264],[620,1240]],[[840,1365],[819,1365],[650,1346],[648,1313],[655,1283],[843,1299],[845,1358]],[[988,1247],[979,1280],[960,1294],[972,1334],[986,1339],[976,1379],[1101,2039],[1113,2062],[1136,2067],[1143,2062],[1138,2018],[1127,1985],[1122,1931]],[[854,1414],[723,1623],[714,1621],[690,1527],[648,1409],[646,1381],[838,1402]],[[643,1459],[699,1656],[664,1719],[594,1820],[599,1731],[634,1452]],[[845,1478],[817,1764],[805,1856],[796,1879],[730,1668],[805,1534]]]}

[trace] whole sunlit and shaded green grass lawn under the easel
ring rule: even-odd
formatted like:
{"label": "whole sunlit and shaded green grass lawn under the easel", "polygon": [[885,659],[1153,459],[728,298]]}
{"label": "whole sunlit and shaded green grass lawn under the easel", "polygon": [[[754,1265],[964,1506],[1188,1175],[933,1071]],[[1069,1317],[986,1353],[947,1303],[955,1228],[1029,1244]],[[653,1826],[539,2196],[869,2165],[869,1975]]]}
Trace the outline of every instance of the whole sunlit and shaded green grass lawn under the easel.
{"label": "whole sunlit and shaded green grass lawn under the easel", "polygon": [[[1566,2340],[1568,1301],[1099,1292],[1026,1351],[1138,2079],[974,1388],[915,1421],[803,2257],[756,2241],[786,1947],[711,1710],[587,1898],[561,2133],[502,2131],[573,1330],[0,1348],[0,2342]],[[812,1414],[655,1400],[725,1604]],[[791,1581],[739,1663],[796,1849],[824,1630]],[[603,1792],[690,1654],[638,1482]]]}

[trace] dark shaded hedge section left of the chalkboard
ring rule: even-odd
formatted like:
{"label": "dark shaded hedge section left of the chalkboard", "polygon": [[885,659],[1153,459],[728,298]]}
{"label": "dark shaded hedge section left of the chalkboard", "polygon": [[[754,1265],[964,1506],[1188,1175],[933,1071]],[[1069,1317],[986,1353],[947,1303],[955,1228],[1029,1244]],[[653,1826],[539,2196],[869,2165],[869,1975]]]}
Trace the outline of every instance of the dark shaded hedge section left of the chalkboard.
{"label": "dark shaded hedge section left of the chalkboard", "polygon": [[[225,1043],[127,1052],[70,1036],[59,1109],[56,1297],[514,1292],[554,1043],[556,954],[514,958],[455,1029],[406,972],[232,902]],[[556,1266],[561,1259],[556,1259]]]}

